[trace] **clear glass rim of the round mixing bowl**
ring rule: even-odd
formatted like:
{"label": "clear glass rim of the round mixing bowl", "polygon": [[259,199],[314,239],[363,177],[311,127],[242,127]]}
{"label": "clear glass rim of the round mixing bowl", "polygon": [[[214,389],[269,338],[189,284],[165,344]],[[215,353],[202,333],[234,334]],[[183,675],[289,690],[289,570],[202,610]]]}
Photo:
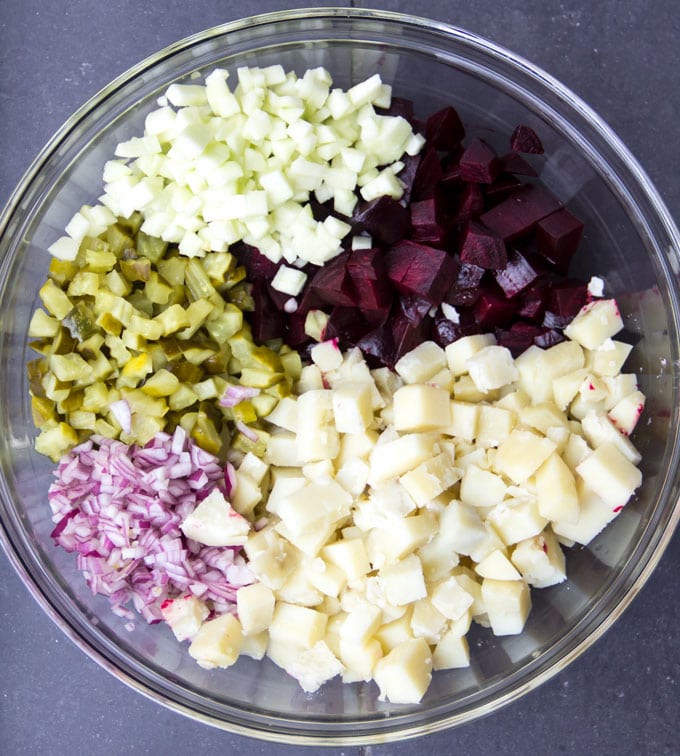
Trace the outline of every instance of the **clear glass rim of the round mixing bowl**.
{"label": "clear glass rim of the round mixing bowl", "polygon": [[[237,21],[221,24],[211,27],[197,34],[186,37],[179,40],[162,50],[152,54],[146,59],[140,61],[137,65],[128,69],[126,72],[115,78],[107,86],[101,89],[90,100],[84,103],[73,115],[61,126],[61,128],[54,134],[45,147],[36,156],[31,166],[28,168],[23,178],[15,188],[14,192],[10,196],[2,215],[0,216],[0,238],[4,235],[10,220],[20,212],[21,199],[31,183],[39,176],[42,168],[49,162],[51,155],[58,149],[59,144],[66,138],[66,136],[76,127],[78,123],[81,123],[87,118],[88,114],[95,111],[100,105],[102,105],[106,99],[112,96],[117,89],[123,85],[131,82],[134,78],[140,76],[144,71],[152,69],[159,62],[164,59],[171,58],[173,55],[186,51],[196,45],[204,43],[212,38],[228,37],[235,32],[242,32],[243,30],[254,26],[276,26],[286,24],[299,23],[300,28],[303,27],[305,21],[315,19],[316,21],[326,21],[332,26],[333,19],[344,18],[346,20],[356,20],[366,23],[375,22],[376,24],[392,24],[399,25],[404,29],[409,29],[414,33],[427,33],[428,35],[436,36],[437,41],[445,43],[456,40],[459,43],[464,44],[471,50],[474,50],[483,55],[487,55],[496,61],[502,61],[505,65],[509,66],[513,73],[520,73],[532,82],[532,84],[542,90],[546,94],[550,94],[556,97],[560,104],[570,109],[572,113],[579,116],[584,122],[587,122],[591,127],[592,134],[602,140],[603,144],[606,144],[611,154],[619,161],[621,165],[624,165],[629,173],[629,179],[635,184],[635,188],[642,192],[649,206],[654,214],[654,220],[659,224],[660,229],[666,236],[667,244],[663,247],[664,253],[676,255],[677,250],[680,250],[680,232],[668,212],[663,200],[659,196],[651,180],[647,176],[644,169],[639,165],[637,160],[621,142],[619,137],[613,132],[613,130],[600,118],[595,111],[593,111],[583,100],[578,97],[574,92],[565,87],[557,79],[543,71],[541,68],[535,66],[529,61],[525,60],[521,56],[511,52],[510,50],[497,45],[479,35],[468,32],[459,27],[453,25],[433,21],[431,19],[413,16],[404,13],[394,13],[382,10],[371,10],[363,8],[341,8],[341,7],[326,7],[326,8],[300,8],[291,9],[285,11],[277,11],[272,13],[264,13],[252,17],[246,17]],[[376,29],[379,31],[379,28]],[[326,31],[324,29],[324,31]],[[4,268],[6,260],[0,260],[0,269]],[[668,262],[668,261],[666,261]],[[677,287],[676,294],[677,294]],[[678,313],[673,313],[676,321],[678,320]],[[676,439],[677,446],[677,439]],[[675,455],[677,459],[677,453]],[[42,591],[36,580],[32,577],[29,569],[24,564],[20,554],[14,548],[9,534],[2,522],[0,521],[0,543],[3,546],[5,553],[13,565],[19,577],[26,585],[34,599],[41,606],[43,611],[55,622],[55,624],[90,658],[97,662],[101,667],[107,669],[112,675],[117,677],[127,686],[137,690],[139,693],[145,695],[147,698],[160,703],[161,705],[177,711],[183,715],[189,716],[194,720],[204,722],[205,724],[218,727],[237,734],[257,737],[263,740],[269,740],[273,742],[300,744],[300,745],[317,745],[317,746],[332,746],[332,745],[359,745],[359,744],[371,744],[371,743],[385,743],[398,739],[413,738],[425,734],[431,734],[443,729],[468,722],[476,719],[480,716],[485,716],[493,711],[497,710],[501,706],[504,706],[525,693],[535,689],[543,682],[547,681],[554,675],[558,674],[574,659],[584,653],[590,648],[595,641],[597,641],[621,616],[623,611],[628,607],[645,582],[648,580],[656,565],[658,564],[665,548],[671,540],[671,537],[677,527],[678,521],[680,521],[680,502],[675,501],[673,503],[665,503],[665,521],[664,528],[660,533],[656,535],[656,538],[652,542],[646,545],[644,550],[644,559],[636,566],[634,570],[629,570],[626,575],[619,576],[617,581],[618,591],[615,596],[609,596],[607,606],[610,611],[606,616],[602,616],[602,611],[599,612],[596,621],[591,621],[589,624],[590,632],[585,637],[580,638],[578,641],[574,641],[568,645],[565,649],[562,649],[563,653],[551,653],[551,659],[553,661],[544,668],[535,669],[530,679],[525,682],[514,685],[509,690],[503,692],[500,695],[496,695],[492,700],[482,703],[472,709],[463,711],[458,714],[446,714],[446,712],[438,714],[437,718],[430,718],[424,716],[421,723],[413,722],[409,717],[408,721],[403,723],[405,726],[397,725],[393,722],[393,726],[389,727],[389,719],[384,721],[383,727],[380,722],[372,722],[376,725],[373,729],[358,728],[357,732],[342,733],[335,731],[332,734],[324,734],[322,732],[323,723],[319,722],[316,727],[311,729],[314,732],[305,732],[304,723],[298,721],[295,726],[290,727],[286,724],[282,724],[280,720],[276,721],[276,727],[270,727],[266,721],[260,721],[254,726],[244,725],[240,722],[227,721],[224,719],[217,719],[213,716],[206,715],[196,709],[184,705],[180,702],[168,698],[163,693],[153,690],[147,686],[144,682],[137,679],[132,674],[129,674],[125,670],[112,663],[107,656],[105,656],[99,649],[91,645],[86,639],[84,639],[69,622],[63,617],[59,611],[55,608],[53,602],[48,595]],[[641,566],[640,566],[641,565]],[[627,578],[624,580],[624,577]],[[557,658],[555,658],[557,657]],[[426,714],[426,711],[423,711]],[[264,718],[266,719],[266,717]],[[395,720],[398,717],[395,717]],[[301,726],[302,725],[302,726]]]}

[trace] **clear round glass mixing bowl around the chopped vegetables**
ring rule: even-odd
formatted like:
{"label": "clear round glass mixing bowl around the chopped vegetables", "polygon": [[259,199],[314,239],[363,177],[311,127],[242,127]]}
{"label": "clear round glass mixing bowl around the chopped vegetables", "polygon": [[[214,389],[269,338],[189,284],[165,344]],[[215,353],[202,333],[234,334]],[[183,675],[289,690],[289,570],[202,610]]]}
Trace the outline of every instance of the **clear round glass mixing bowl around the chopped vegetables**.
{"label": "clear round glass mixing bowl around the chopped vegetables", "polygon": [[[347,87],[378,72],[420,115],[453,104],[468,133],[505,149],[517,123],[545,144],[542,179],[586,224],[576,262],[603,276],[637,339],[631,362],[648,397],[635,441],[644,483],[587,548],[569,580],[533,592],[519,636],[472,631],[468,669],[438,672],[417,706],[380,702],[373,684],[337,679],[313,695],[268,661],[198,667],[165,626],[124,628],[54,547],[46,501],[53,465],[33,449],[27,325],[47,247],[101,192],[114,146],[141,132],[171,82],[222,66],[325,66]],[[677,523],[678,231],[640,166],[573,93],[512,53],[459,29],[355,9],[277,13],[208,30],[139,64],[82,107],[38,156],[0,222],[0,535],[29,590],[92,658],[136,690],[212,725],[306,744],[413,737],[494,711],[556,674],[616,620],[649,577]]]}

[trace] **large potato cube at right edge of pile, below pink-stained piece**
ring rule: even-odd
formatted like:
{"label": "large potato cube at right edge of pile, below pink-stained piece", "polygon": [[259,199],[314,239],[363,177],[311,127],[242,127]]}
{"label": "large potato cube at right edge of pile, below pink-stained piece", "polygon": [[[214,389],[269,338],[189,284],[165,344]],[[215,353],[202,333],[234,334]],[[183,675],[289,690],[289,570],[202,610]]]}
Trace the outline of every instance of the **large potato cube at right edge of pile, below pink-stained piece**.
{"label": "large potato cube at right edge of pile, below pink-stained piece", "polygon": [[584,483],[612,509],[623,507],[642,483],[642,474],[619,449],[603,443],[576,468]]}

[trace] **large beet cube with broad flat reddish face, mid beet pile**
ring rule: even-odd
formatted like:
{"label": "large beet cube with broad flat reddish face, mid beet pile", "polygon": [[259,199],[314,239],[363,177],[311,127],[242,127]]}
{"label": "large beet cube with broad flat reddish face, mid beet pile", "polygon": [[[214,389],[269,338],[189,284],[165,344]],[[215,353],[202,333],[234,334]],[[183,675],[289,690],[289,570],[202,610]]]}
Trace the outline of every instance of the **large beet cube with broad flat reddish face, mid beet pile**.
{"label": "large beet cube with broad flat reddish face, mid beet pile", "polygon": [[408,240],[390,247],[385,262],[397,291],[435,305],[441,304],[457,273],[453,258],[444,250]]}

